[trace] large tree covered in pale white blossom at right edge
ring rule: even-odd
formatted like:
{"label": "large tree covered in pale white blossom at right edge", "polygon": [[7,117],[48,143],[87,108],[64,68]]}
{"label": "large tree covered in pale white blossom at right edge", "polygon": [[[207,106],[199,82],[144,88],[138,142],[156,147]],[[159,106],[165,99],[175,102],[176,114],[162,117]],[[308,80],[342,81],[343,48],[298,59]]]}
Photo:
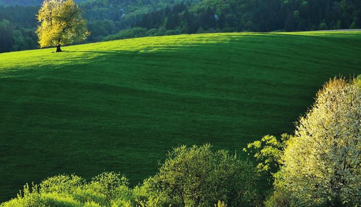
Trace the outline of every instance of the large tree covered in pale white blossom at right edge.
{"label": "large tree covered in pale white blossom at right edge", "polygon": [[329,81],[288,141],[282,185],[302,206],[361,203],[360,86],[359,78]]}

